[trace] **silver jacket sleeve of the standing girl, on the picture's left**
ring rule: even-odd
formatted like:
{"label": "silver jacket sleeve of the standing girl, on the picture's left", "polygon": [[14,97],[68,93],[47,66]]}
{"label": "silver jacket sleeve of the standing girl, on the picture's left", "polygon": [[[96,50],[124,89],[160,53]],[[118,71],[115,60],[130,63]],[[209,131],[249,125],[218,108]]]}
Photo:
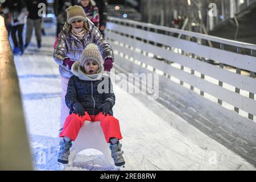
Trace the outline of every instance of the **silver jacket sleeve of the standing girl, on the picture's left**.
{"label": "silver jacket sleeve of the standing girl, on the picture's left", "polygon": [[63,31],[61,31],[59,34],[57,46],[53,52],[53,58],[54,58],[55,62],[57,64],[59,64],[61,67],[65,67],[63,65],[63,60],[65,58],[68,58],[66,56],[66,54],[67,54],[67,44],[65,42],[65,35],[64,35]]}

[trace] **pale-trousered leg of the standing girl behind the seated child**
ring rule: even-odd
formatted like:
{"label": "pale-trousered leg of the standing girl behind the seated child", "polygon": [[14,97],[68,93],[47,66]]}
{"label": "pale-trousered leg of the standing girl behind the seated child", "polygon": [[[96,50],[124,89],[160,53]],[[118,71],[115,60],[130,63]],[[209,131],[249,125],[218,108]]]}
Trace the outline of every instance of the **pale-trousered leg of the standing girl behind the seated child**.
{"label": "pale-trousered leg of the standing girl behind the seated child", "polygon": [[61,95],[61,109],[60,109],[60,127],[64,126],[65,119],[69,115],[69,108],[65,102],[65,95],[67,93],[68,88],[68,78],[61,77],[61,88],[62,88],[62,95]]}

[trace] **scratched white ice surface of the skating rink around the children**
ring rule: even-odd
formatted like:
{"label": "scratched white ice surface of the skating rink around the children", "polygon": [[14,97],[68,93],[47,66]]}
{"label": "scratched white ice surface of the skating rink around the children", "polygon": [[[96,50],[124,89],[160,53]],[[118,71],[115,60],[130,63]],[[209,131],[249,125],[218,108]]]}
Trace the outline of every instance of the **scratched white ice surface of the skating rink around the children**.
{"label": "scratched white ice surface of the skating rink around the children", "polygon": [[[24,55],[14,61],[22,93],[23,109],[36,170],[60,170],[59,150],[61,83],[53,60],[55,26],[45,24],[42,48],[35,37]],[[123,135],[123,170],[255,170],[241,156],[208,137],[158,102],[159,114],[121,88],[114,88],[114,115]],[[170,117],[164,119],[161,113]],[[77,155],[66,170],[111,170],[100,151],[89,149]]]}

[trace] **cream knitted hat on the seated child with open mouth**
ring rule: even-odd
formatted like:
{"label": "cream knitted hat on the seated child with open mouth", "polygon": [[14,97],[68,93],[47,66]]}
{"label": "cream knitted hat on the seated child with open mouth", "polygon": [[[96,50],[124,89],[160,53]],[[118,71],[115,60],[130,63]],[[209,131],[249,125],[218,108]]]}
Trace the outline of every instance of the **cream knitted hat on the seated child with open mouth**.
{"label": "cream knitted hat on the seated child with open mouth", "polygon": [[88,60],[94,60],[94,61],[96,61],[96,63],[98,64],[99,67],[102,66],[103,59],[102,59],[101,53],[98,49],[98,46],[96,44],[91,43],[88,46],[86,46],[84,51],[82,51],[82,56],[79,60],[80,66],[84,67],[84,64]]}

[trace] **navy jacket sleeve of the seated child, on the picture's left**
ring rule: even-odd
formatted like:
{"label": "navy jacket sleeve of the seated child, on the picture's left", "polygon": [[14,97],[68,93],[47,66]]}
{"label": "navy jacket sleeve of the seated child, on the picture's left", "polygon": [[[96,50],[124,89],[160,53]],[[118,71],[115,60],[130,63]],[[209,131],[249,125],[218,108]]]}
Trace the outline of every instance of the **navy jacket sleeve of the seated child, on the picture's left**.
{"label": "navy jacket sleeve of the seated child, on the picture's left", "polygon": [[67,94],[65,95],[65,102],[67,107],[70,110],[73,110],[73,105],[78,102],[77,101],[77,88],[75,85],[74,76],[72,76],[68,81]]}

